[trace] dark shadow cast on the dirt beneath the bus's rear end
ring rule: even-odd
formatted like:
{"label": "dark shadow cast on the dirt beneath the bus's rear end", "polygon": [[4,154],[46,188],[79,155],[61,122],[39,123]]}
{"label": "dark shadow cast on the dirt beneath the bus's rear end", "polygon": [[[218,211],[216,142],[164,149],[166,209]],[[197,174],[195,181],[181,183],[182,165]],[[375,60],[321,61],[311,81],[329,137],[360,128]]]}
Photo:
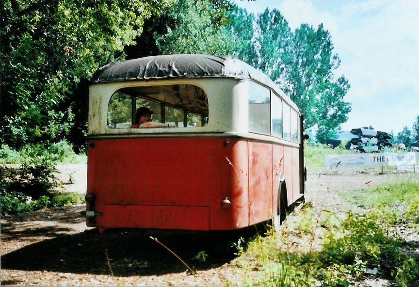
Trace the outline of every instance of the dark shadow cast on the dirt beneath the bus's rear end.
{"label": "dark shadow cast on the dirt beneath the bus's rear end", "polygon": [[[219,267],[232,260],[227,249],[239,234],[190,234],[158,238],[195,270]],[[214,242],[218,244],[214,247]],[[224,250],[217,247],[224,246]],[[193,259],[205,251],[205,262]],[[113,274],[114,276],[161,275],[187,268],[148,234],[113,231],[99,234],[90,229],[73,235],[43,240],[1,256],[1,268],[25,271]],[[4,282],[2,282],[4,284]]]}

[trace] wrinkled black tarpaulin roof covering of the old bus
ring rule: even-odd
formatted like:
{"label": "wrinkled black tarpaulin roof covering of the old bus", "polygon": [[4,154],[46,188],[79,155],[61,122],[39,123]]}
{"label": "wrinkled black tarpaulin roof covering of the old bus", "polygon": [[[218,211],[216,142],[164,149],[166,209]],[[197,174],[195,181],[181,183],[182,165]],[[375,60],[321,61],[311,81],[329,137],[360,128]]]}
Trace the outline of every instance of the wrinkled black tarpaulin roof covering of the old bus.
{"label": "wrinkled black tarpaulin roof covering of the old bus", "polygon": [[114,62],[99,68],[91,83],[226,77],[274,82],[259,70],[230,56],[204,54],[162,55]]}

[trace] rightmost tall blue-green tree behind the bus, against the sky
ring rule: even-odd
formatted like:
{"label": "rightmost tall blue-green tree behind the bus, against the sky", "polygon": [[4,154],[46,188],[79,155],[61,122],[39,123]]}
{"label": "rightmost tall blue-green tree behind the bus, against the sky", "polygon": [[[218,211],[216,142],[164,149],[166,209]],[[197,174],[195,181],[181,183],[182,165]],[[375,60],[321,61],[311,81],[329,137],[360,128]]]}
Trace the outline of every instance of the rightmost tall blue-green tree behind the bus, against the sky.
{"label": "rightmost tall blue-green tree behind the bus, against the sky", "polygon": [[283,73],[284,92],[300,108],[306,128],[318,125],[320,142],[325,142],[322,135],[339,131],[351,111],[350,103],[343,101],[350,85],[343,76],[335,80],[333,71],[340,60],[332,51],[330,34],[322,24],[317,30],[302,24],[294,32]]}

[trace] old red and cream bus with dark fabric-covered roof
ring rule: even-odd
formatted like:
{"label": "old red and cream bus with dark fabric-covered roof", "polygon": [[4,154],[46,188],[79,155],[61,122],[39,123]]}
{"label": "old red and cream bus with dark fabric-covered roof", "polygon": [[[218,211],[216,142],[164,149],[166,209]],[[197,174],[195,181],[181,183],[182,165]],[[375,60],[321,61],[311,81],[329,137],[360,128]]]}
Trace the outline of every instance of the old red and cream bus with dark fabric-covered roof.
{"label": "old red and cream bus with dark fabric-covered roof", "polygon": [[[161,127],[137,128],[140,107]],[[304,195],[302,142],[297,106],[240,60],[105,65],[89,89],[86,223],[100,232],[277,226]]]}

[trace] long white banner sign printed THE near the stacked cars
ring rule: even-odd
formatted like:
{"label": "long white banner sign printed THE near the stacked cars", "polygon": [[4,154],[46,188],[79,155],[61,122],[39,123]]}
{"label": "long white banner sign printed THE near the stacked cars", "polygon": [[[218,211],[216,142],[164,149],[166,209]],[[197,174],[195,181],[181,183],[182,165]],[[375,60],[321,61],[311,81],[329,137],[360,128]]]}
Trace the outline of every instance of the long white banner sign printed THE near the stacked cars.
{"label": "long white banner sign printed THE near the stacked cars", "polygon": [[325,167],[355,167],[374,165],[416,164],[414,152],[408,153],[370,153],[355,155],[325,155]]}

